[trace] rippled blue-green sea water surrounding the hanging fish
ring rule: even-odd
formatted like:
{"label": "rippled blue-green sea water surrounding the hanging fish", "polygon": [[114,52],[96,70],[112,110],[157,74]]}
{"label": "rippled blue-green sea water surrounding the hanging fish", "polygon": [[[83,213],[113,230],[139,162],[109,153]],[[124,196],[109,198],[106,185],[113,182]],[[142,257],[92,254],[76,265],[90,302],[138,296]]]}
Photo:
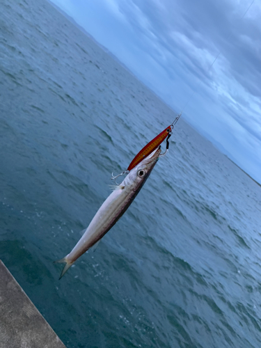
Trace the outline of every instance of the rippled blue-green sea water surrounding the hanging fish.
{"label": "rippled blue-green sea water surrounding the hanging fish", "polygon": [[177,114],[49,2],[0,13],[0,258],[59,338],[260,348],[261,187],[184,118],[120,221],[58,280],[111,173]]}

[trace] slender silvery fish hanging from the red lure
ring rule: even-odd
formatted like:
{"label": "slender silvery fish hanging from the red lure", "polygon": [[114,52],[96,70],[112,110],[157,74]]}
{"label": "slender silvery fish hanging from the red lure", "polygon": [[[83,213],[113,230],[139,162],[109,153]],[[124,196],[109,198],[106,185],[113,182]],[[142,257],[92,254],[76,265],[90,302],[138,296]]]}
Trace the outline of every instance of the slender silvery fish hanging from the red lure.
{"label": "slender silvery fish hanging from the red lure", "polygon": [[158,146],[148,157],[145,157],[138,165],[132,168],[121,184],[118,184],[109,197],[104,200],[93,220],[90,221],[88,228],[84,231],[84,235],[79,239],[72,251],[65,258],[56,261],[65,263],[59,279],[62,278],[81,255],[100,242],[100,239],[104,237],[106,232],[111,230],[126,212],[150,176],[160,155],[161,150],[160,146]]}

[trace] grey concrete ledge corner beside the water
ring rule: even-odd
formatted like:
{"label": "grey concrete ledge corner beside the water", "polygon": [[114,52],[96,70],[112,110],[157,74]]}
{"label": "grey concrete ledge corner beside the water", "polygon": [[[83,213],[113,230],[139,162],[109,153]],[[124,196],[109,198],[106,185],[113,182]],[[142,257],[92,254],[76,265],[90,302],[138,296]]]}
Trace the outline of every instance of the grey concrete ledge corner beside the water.
{"label": "grey concrete ledge corner beside the water", "polygon": [[0,347],[65,348],[1,260]]}

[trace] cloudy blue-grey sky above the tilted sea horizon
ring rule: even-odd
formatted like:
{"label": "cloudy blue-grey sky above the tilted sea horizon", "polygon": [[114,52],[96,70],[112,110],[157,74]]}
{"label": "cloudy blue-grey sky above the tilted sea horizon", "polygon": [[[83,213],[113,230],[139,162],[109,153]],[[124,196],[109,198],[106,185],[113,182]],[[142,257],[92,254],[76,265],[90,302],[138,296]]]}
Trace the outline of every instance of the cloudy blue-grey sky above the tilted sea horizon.
{"label": "cloudy blue-grey sky above the tilted sea horizon", "polygon": [[261,183],[259,0],[52,2]]}

